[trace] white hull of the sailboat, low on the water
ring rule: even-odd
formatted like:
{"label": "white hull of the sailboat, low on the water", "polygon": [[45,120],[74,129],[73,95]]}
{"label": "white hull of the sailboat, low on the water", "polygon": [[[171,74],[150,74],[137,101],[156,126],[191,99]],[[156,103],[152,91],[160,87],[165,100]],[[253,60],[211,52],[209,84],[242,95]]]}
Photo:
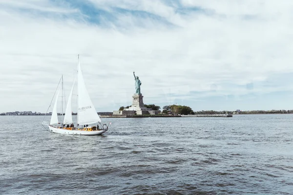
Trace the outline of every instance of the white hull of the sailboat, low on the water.
{"label": "white hull of the sailboat, low on the water", "polygon": [[86,130],[67,130],[64,128],[57,128],[48,125],[50,132],[57,134],[68,134],[68,135],[79,135],[79,136],[96,136],[104,134],[106,130],[97,130],[97,131],[86,131]]}

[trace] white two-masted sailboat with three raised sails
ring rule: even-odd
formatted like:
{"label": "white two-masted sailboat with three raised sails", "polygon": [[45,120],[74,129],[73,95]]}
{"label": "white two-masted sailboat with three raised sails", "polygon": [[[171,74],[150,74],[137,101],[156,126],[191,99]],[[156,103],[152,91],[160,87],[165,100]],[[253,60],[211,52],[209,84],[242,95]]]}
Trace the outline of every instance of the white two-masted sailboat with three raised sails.
{"label": "white two-masted sailboat with three raised sails", "polygon": [[[62,94],[63,94],[63,76],[61,77],[60,81],[61,80],[62,80]],[[60,84],[60,81],[58,83],[58,86]],[[103,124],[103,125],[101,124],[102,120],[100,119],[88,95],[88,92],[85,88],[84,77],[82,74],[80,61],[79,61],[79,55],[78,55],[78,72],[77,72],[78,113],[77,113],[76,126],[73,124],[72,111],[71,111],[72,93],[73,93],[74,85],[75,85],[75,81],[73,82],[73,85],[68,97],[64,119],[63,119],[63,106],[62,106],[62,120],[63,121],[60,123],[58,120],[58,114],[57,114],[57,104],[58,104],[57,102],[59,98],[59,91],[58,91],[57,96],[55,98],[55,103],[54,103],[50,123],[44,121],[43,119],[42,124],[47,125],[48,130],[50,132],[58,133],[58,134],[84,135],[84,136],[95,136],[95,135],[104,134],[106,131],[108,131],[108,126],[111,123],[109,122],[108,124]],[[57,86],[57,89],[58,89],[58,86]],[[57,92],[57,89],[55,91],[55,94]],[[62,103],[63,103],[63,98],[62,98]]]}

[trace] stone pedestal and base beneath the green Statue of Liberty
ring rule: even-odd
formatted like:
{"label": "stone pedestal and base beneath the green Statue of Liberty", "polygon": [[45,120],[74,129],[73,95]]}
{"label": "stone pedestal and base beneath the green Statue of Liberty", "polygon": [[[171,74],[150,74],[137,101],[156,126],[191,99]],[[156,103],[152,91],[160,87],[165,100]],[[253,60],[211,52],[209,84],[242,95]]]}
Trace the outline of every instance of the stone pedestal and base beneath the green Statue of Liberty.
{"label": "stone pedestal and base beneath the green Statue of Liberty", "polygon": [[121,111],[114,111],[113,115],[157,115],[160,113],[159,110],[146,108],[143,98],[142,94],[134,94],[131,106]]}

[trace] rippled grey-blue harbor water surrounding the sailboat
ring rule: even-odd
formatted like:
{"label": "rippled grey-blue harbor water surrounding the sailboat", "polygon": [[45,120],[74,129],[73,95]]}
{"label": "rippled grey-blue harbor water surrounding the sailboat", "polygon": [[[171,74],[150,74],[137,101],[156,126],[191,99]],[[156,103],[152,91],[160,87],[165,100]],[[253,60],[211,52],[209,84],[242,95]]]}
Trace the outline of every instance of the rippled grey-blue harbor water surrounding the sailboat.
{"label": "rippled grey-blue harbor water surrounding the sailboat", "polygon": [[105,118],[104,136],[0,116],[0,194],[289,195],[293,115]]}

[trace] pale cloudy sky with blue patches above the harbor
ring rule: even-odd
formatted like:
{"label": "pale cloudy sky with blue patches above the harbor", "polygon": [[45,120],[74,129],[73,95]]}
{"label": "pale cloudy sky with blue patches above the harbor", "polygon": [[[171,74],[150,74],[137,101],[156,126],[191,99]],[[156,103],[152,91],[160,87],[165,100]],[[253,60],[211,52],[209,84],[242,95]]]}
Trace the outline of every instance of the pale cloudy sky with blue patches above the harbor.
{"label": "pale cloudy sky with blue patches above the harbor", "polygon": [[[97,112],[293,109],[291,0],[0,0],[0,113],[45,113],[80,55]],[[65,97],[66,98],[66,97]],[[53,106],[52,106],[53,107]]]}

